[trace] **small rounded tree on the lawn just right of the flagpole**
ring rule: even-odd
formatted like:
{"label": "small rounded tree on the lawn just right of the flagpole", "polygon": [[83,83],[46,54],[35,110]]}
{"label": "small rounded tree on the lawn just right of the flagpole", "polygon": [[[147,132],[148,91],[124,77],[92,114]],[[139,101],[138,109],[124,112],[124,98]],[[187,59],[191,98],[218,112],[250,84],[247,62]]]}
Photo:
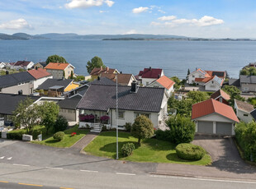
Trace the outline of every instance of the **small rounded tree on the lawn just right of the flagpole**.
{"label": "small rounded tree on the lawn just right of the flagpole", "polygon": [[154,135],[153,123],[144,115],[138,116],[132,124],[131,135],[137,138],[140,144],[141,139],[149,138]]}

